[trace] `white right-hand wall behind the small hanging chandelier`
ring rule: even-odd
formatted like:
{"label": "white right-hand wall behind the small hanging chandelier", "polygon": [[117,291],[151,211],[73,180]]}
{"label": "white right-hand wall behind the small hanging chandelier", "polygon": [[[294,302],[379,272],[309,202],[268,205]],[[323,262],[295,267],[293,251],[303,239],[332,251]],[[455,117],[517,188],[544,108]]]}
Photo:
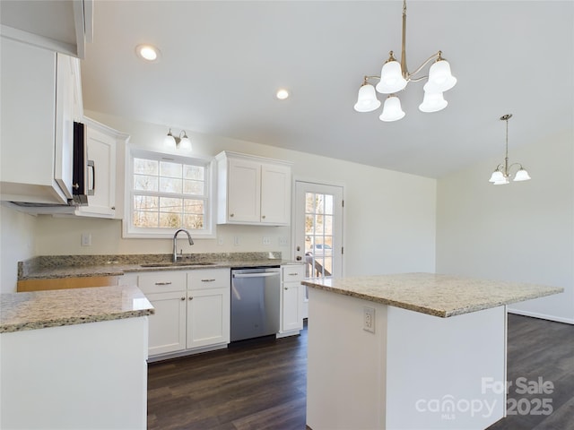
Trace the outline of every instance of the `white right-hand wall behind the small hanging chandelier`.
{"label": "white right-hand wall behind the small hanging chandelier", "polygon": [[573,142],[569,130],[510,148],[510,162],[532,176],[527,182],[491,185],[500,159],[440,178],[437,272],[566,288],[510,309],[574,323]]}

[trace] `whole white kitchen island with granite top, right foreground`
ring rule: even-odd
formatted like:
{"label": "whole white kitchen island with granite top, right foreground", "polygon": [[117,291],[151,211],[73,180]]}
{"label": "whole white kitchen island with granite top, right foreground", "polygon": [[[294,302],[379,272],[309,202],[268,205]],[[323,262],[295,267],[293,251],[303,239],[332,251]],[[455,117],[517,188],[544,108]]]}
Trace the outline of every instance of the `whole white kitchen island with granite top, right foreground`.
{"label": "whole white kitchen island with granite top, right foreground", "polygon": [[303,283],[312,430],[490,426],[506,414],[506,305],[563,291],[430,273]]}

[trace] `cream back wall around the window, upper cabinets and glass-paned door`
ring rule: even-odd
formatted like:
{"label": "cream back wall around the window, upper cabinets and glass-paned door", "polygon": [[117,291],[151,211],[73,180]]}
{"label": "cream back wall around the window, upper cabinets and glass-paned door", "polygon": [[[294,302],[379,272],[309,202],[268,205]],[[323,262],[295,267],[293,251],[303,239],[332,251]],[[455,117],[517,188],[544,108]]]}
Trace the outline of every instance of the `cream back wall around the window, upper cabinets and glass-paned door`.
{"label": "cream back wall around the window, upper cabinets and glass-paned door", "polygon": [[[145,149],[161,149],[168,127],[152,125],[97,112],[86,116],[130,134],[130,143]],[[183,127],[182,127],[183,128]],[[174,132],[177,127],[174,127]],[[179,130],[178,130],[179,131]],[[436,181],[380,168],[367,167],[338,159],[308,153],[282,150],[253,142],[187,134],[192,139],[194,154],[212,157],[222,150],[254,154],[293,163],[293,176],[344,185],[344,273],[375,274],[401,271],[434,271],[436,229]],[[117,194],[123,194],[124,150],[118,149]],[[117,202],[119,203],[119,202]],[[120,207],[121,204],[117,204]],[[39,216],[34,221],[34,255],[55,254],[169,254],[170,239],[123,239],[121,221],[117,219],[74,219]],[[2,221],[2,228],[12,229]],[[91,246],[81,245],[82,233],[90,233]],[[18,234],[16,228],[14,235]],[[197,239],[196,245],[178,244],[184,253],[219,253],[281,251],[291,256],[290,228],[252,226],[218,226],[216,239]],[[239,236],[239,245],[233,237]],[[273,245],[263,245],[270,236]],[[279,238],[288,239],[287,246]],[[4,251],[4,240],[3,240]],[[22,254],[22,253],[20,253]],[[12,265],[13,262],[6,262]],[[4,264],[4,259],[3,259]],[[14,262],[15,264],[15,262]],[[15,272],[14,272],[15,273]],[[6,280],[15,285],[15,277]],[[9,287],[4,286],[5,290]]]}

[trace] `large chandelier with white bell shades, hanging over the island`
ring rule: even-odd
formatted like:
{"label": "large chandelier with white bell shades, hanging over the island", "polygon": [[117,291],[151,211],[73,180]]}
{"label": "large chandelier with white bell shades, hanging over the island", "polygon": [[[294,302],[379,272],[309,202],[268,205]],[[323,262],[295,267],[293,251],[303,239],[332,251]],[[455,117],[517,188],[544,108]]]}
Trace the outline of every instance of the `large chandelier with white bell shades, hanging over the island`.
{"label": "large chandelier with white bell shades, hanging over the island", "polygon": [[[396,97],[396,92],[404,90],[408,82],[419,82],[427,80],[424,84],[424,98],[422,99],[419,109],[422,112],[438,112],[447,107],[448,102],[442,96],[446,90],[450,90],[457,83],[450,73],[448,61],[442,57],[442,52],[430,56],[421,64],[413,73],[409,73],[406,67],[406,0],[403,0],[403,43],[401,48],[401,62],[399,64],[393,56],[393,51],[389,52],[388,60],[380,72],[380,76],[365,75],[359,96],[354,108],[357,112],[371,112],[380,107],[380,101],[377,99],[375,89],[382,93],[388,94],[383,106],[383,113],[378,117],[381,121],[397,121],[404,117],[404,111],[401,108],[401,100]],[[432,60],[436,60],[429,69],[428,76],[417,76],[421,73],[424,66]],[[373,87],[369,82],[373,79],[378,80],[377,87]]]}

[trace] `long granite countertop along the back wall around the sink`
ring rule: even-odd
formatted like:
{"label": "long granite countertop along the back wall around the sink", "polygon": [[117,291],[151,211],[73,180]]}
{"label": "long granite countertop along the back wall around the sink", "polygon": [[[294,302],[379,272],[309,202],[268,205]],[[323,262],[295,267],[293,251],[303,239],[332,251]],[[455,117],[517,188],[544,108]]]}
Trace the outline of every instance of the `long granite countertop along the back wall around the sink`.
{"label": "long granite countertop along the back wall around the sink", "polygon": [[[61,255],[43,256],[21,262],[18,280],[46,280],[89,276],[121,276],[140,271],[189,271],[230,267],[258,267],[293,264],[281,253],[194,254],[184,262],[170,264],[170,254]],[[205,264],[208,262],[208,264]],[[158,266],[155,264],[166,264]],[[298,262],[300,263],[300,262]]]}

